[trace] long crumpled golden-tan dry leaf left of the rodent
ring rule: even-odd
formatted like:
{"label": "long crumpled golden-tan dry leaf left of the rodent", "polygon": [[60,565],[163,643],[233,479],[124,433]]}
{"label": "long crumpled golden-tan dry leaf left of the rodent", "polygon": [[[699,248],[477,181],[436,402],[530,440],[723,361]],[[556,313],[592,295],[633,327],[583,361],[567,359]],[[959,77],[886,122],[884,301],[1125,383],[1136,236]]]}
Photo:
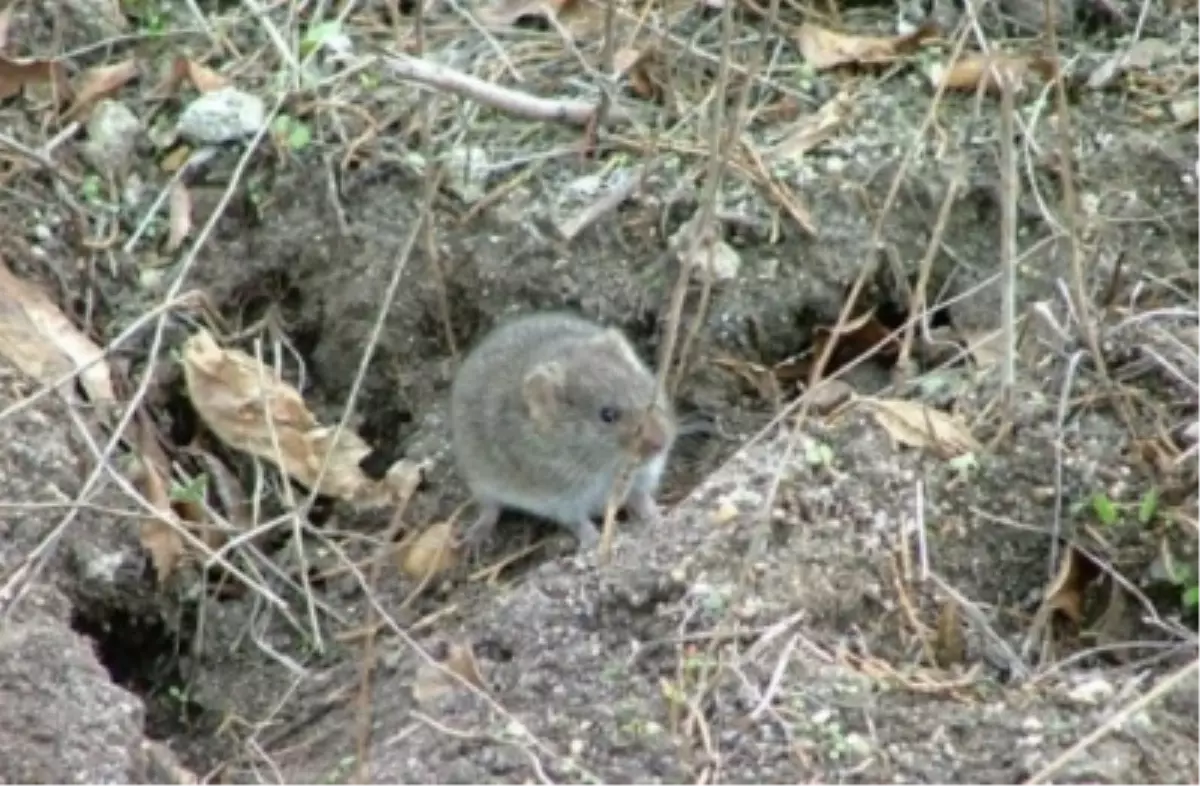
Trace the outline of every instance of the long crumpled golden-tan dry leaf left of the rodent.
{"label": "long crumpled golden-tan dry leaf left of the rodent", "polygon": [[319,492],[359,506],[402,504],[416,491],[424,464],[401,460],[382,480],[367,476],[359,462],[371,446],[349,428],[342,430],[335,445],[335,428],[322,426],[294,388],[246,353],[222,349],[202,330],[187,340],[182,359],[192,404],[212,433],[232,448],[280,462],[283,472],[308,488],[329,455]]}

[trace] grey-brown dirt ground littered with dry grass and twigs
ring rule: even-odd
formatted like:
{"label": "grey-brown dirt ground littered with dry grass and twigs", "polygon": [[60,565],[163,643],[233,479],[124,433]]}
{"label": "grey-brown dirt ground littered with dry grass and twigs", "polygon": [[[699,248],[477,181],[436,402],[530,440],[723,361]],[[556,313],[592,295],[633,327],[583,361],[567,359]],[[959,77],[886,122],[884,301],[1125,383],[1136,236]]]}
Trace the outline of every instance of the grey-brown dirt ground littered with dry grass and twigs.
{"label": "grey-brown dirt ground littered with dry grass and twigs", "polygon": [[[74,415],[31,398],[11,368],[28,376],[28,336],[0,325],[0,749],[13,751],[0,785],[80,770],[114,784],[1200,782],[1194,14],[1057,6],[1068,210],[1044,61],[1014,60],[1016,191],[1000,98],[935,100],[954,4],[934,4],[943,43],[836,68],[820,52],[863,41],[817,47],[802,22],[894,37],[892,4],[838,20],[787,5],[774,22],[749,4],[724,43],[720,4],[654,6],[617,92],[642,114],[594,136],[418,89],[370,58],[421,44],[457,72],[594,101],[599,12],[518,24],[515,4],[480,7],[485,35],[450,4],[422,43],[410,7],[352,5],[349,54],[326,42],[282,103],[292,125],[212,146],[182,190],[168,162],[198,145],[180,154],[164,130],[206,77],[164,82],[176,58],[270,107],[289,73],[281,47],[306,50],[312,10],[210,4],[198,20],[148,0],[121,4],[122,28],[85,2],[32,5],[6,12],[5,56],[62,55],[77,90],[88,68],[137,58],[138,76],[103,95],[142,127],[101,173],[86,144],[104,130],[56,137],[70,118],[47,120],[46,85],[0,103],[0,258],[106,349],[121,406],[169,461],[173,510],[203,478],[203,504],[250,512],[220,541],[239,572],[205,566],[202,528],[163,572],[136,491],[151,496],[119,480],[145,445],[97,461],[89,439],[102,445],[113,420],[80,403],[86,389]],[[1044,52],[1040,11],[991,4],[978,31]],[[634,35],[626,16],[617,29]],[[739,70],[715,112],[722,46]],[[715,197],[714,115],[742,119]],[[618,523],[606,560],[511,515],[478,560],[426,582],[397,569],[396,541],[473,512],[446,422],[462,352],[508,316],[569,308],[661,362],[684,270],[672,238],[713,200],[732,263],[710,288],[696,271],[679,301],[676,401],[697,427],[670,464],[661,526]],[[1006,385],[1008,212],[1020,258]],[[859,286],[830,356],[840,386],[802,410]],[[204,307],[164,306],[188,293]],[[900,362],[904,331],[883,337],[906,324],[925,330]],[[365,475],[424,462],[412,498],[397,511],[325,496],[282,516],[306,490],[226,444],[190,400],[181,359],[202,328],[262,353],[322,424],[348,415],[371,449]]]}

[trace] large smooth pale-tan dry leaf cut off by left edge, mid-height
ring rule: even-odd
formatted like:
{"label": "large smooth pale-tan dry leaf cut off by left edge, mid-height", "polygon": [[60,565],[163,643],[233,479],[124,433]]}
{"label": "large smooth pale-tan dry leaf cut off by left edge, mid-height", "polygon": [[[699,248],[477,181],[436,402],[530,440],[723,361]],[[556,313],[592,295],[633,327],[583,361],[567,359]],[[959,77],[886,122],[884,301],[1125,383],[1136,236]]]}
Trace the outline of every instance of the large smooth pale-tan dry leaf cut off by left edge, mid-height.
{"label": "large smooth pale-tan dry leaf cut off by left edge, mid-height", "polygon": [[[79,332],[38,287],[22,281],[0,259],[0,354],[42,384],[84,366],[79,384],[96,407],[116,403],[104,353]],[[90,365],[89,365],[90,364]],[[71,389],[71,382],[64,385]]]}

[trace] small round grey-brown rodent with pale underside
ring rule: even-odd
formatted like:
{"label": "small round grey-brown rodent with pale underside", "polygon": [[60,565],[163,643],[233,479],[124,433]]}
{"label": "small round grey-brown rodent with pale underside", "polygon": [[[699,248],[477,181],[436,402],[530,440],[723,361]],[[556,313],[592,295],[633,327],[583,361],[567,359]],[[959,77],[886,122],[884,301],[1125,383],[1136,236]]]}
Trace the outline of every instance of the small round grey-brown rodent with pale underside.
{"label": "small round grey-brown rodent with pale underside", "polygon": [[450,392],[455,461],[479,516],[475,548],[503,509],[556,522],[583,548],[599,541],[619,473],[635,469],[622,505],[644,522],[677,434],[674,410],[620,330],[565,312],[517,317],[463,360]]}

